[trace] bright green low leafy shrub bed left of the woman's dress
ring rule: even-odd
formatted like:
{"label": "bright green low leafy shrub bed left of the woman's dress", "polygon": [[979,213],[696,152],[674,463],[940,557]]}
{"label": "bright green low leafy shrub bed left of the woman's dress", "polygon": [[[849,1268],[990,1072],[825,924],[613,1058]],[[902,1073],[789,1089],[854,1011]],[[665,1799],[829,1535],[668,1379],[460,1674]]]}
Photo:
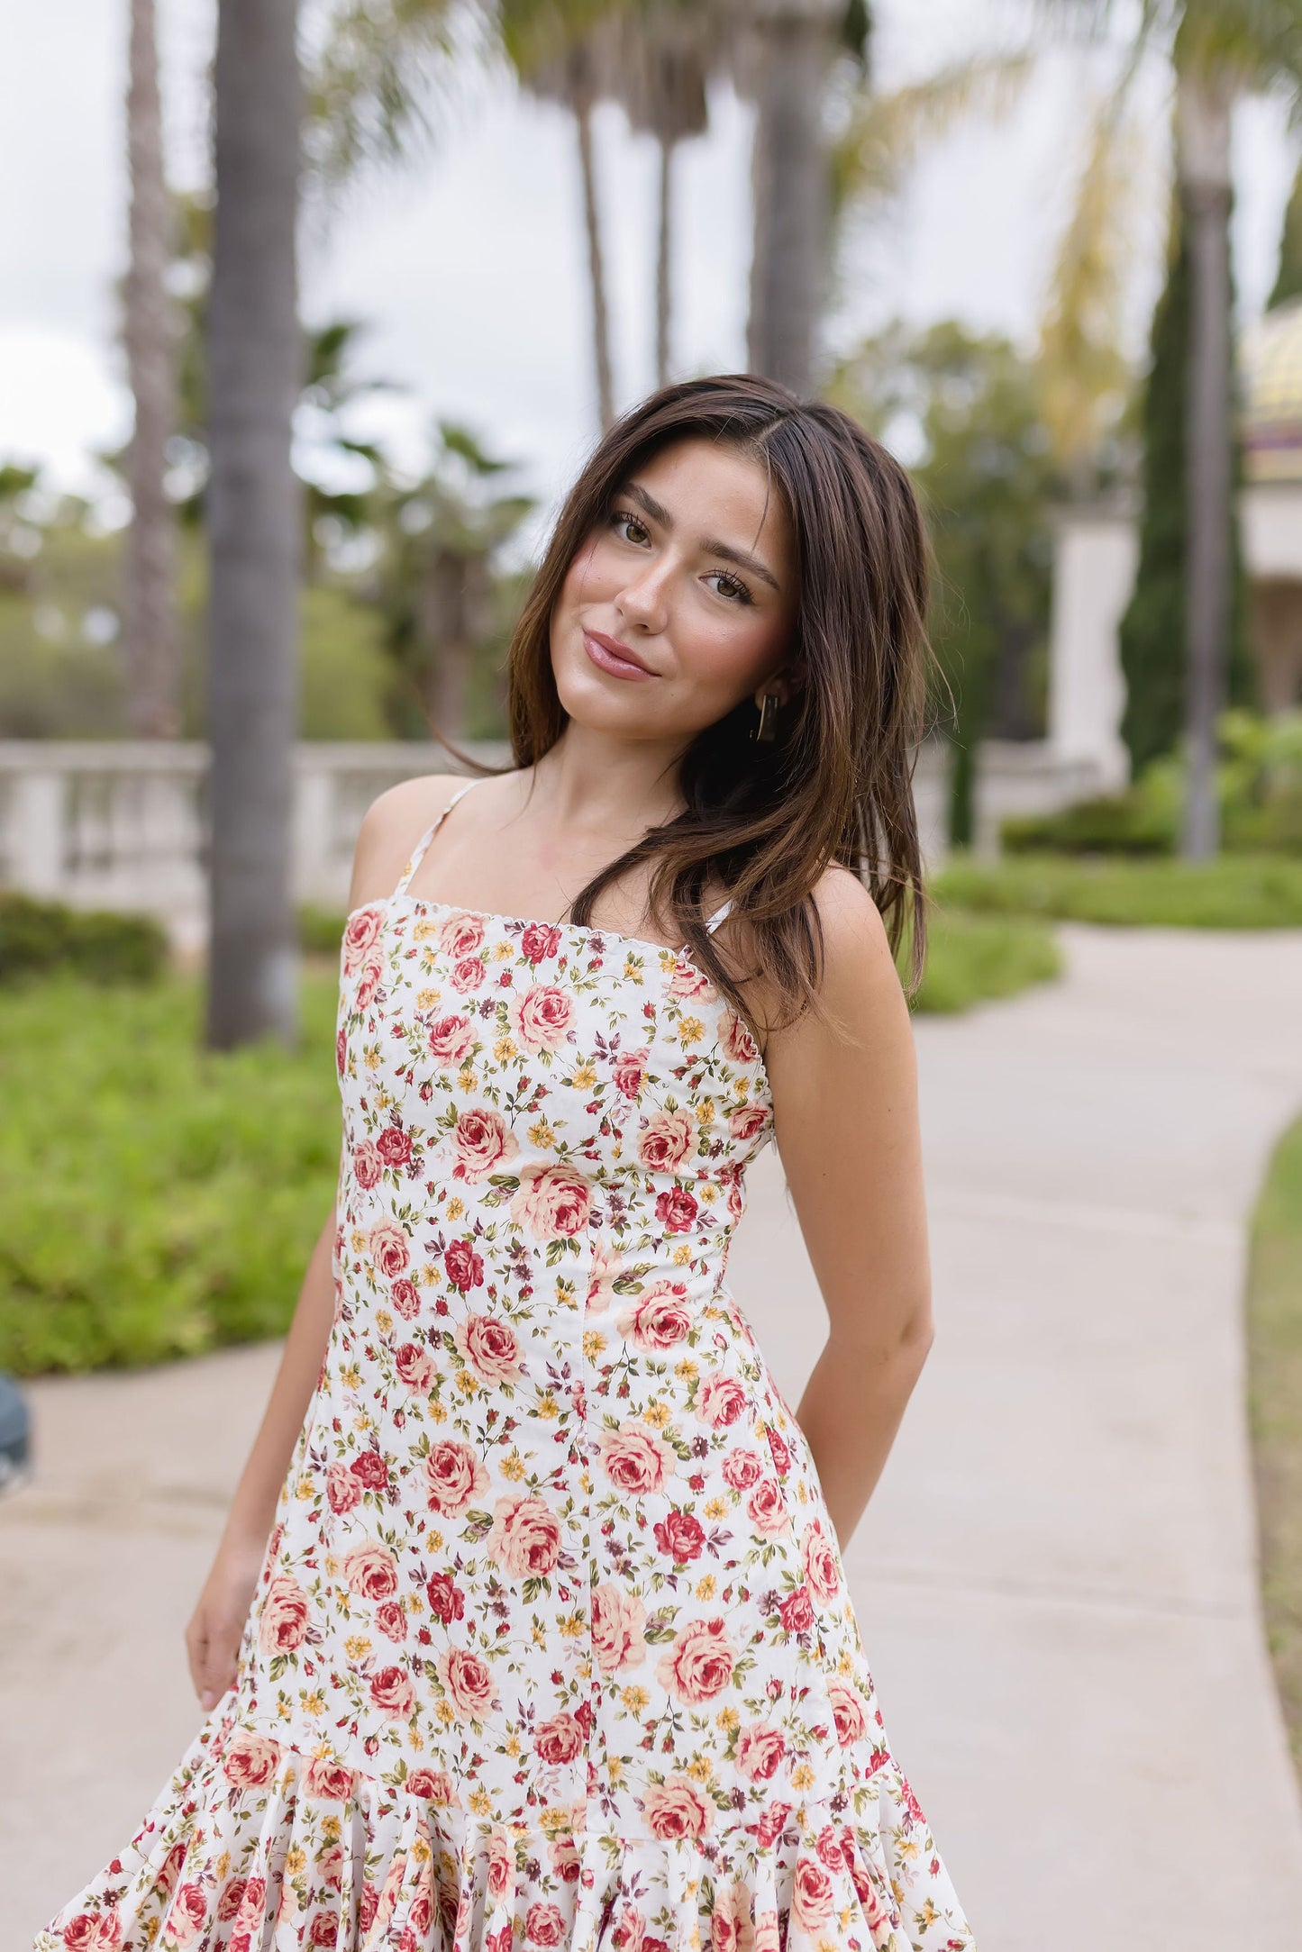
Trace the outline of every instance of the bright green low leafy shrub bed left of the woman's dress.
{"label": "bright green low leafy shrub bed left of the woman's dress", "polygon": [[297,1052],[203,1050],[189,978],[0,996],[0,1368],[283,1333],[338,1173],[336,994],[305,980]]}

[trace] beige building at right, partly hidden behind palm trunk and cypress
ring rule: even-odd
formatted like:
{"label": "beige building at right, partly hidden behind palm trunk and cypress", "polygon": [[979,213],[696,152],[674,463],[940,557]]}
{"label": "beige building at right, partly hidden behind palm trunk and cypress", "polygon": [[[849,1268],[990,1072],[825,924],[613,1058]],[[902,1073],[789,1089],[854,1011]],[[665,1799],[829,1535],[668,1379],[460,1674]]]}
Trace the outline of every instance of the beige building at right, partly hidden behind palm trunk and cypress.
{"label": "beige building at right, partly hidden behind palm trunk and cypress", "polygon": [[[1249,580],[1253,650],[1267,711],[1302,705],[1302,299],[1247,328],[1240,539]],[[1120,742],[1120,619],[1134,590],[1132,508],[1072,509],[1058,523],[1050,623],[1048,740],[1128,777]]]}

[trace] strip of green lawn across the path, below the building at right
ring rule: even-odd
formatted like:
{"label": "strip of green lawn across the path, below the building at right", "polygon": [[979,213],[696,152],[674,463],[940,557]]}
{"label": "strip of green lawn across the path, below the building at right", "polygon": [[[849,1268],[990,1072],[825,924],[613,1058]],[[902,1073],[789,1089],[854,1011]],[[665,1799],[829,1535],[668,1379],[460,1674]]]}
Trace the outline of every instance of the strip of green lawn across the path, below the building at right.
{"label": "strip of green lawn across the path, below the building at right", "polygon": [[1130,927],[1302,927],[1302,859],[1124,861],[1054,853],[953,857],[933,876],[939,902],[986,915],[1046,915]]}

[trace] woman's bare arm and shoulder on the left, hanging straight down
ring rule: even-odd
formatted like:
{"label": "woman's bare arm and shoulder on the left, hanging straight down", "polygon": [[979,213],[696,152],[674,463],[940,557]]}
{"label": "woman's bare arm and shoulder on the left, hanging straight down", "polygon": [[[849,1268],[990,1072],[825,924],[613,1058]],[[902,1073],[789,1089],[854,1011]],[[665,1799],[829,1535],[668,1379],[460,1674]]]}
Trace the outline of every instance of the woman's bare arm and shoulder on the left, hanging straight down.
{"label": "woman's bare arm and shoulder on the left, hanging straight down", "polygon": [[[357,835],[349,910],[390,892],[422,830],[447,804],[455,787],[457,781],[445,777],[412,779],[375,800]],[[185,1628],[189,1675],[205,1712],[234,1681],[240,1636],[267,1550],[275,1503],[326,1357],[334,1325],[330,1263],[336,1224],[332,1204],[303,1277],[285,1353],[230,1503],[213,1569]]]}

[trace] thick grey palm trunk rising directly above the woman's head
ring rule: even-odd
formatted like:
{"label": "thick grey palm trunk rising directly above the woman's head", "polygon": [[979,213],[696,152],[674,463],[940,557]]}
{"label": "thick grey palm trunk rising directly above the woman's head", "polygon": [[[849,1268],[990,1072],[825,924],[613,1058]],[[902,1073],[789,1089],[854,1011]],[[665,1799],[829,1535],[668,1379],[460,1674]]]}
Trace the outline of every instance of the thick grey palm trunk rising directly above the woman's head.
{"label": "thick grey palm trunk rising directly above the woman's head", "polygon": [[755,0],[753,256],[748,359],[808,394],[828,262],[828,154],[822,98],[834,0]]}

